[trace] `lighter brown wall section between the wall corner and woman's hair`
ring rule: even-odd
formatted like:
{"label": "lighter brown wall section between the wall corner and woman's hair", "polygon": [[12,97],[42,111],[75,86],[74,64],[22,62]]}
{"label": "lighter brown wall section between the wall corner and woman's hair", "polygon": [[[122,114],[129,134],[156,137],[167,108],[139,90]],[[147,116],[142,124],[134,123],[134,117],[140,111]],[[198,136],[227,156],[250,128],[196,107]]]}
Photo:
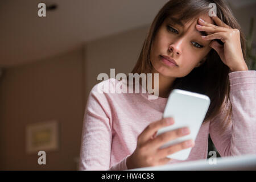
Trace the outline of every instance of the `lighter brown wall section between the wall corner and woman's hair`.
{"label": "lighter brown wall section between the wall corner and woman's hair", "polygon": [[139,27],[86,44],[86,98],[90,89],[100,82],[97,81],[98,74],[107,73],[110,77],[110,68],[115,68],[115,76],[118,73],[131,72],[137,63],[149,28],[149,25]]}

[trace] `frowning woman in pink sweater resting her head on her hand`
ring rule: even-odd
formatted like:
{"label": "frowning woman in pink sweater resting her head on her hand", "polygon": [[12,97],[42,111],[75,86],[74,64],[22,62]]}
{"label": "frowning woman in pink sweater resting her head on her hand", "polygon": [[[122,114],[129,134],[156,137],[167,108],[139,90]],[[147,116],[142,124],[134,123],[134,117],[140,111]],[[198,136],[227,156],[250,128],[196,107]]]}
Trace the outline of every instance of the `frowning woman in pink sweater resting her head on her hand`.
{"label": "frowning woman in pink sweater resting her head on her hand", "polygon": [[[209,16],[210,3],[216,3],[217,16]],[[148,92],[101,94],[95,85],[85,110],[80,169],[184,162],[166,156],[188,147],[193,148],[185,161],[206,159],[208,134],[221,156],[256,153],[256,74],[245,60],[245,39],[224,1],[167,2],[152,22],[131,72],[159,73],[159,97],[148,100]],[[119,81],[108,82],[113,87]],[[162,119],[174,88],[206,94],[211,103],[195,141],[160,149],[168,140],[189,134],[184,128],[156,137],[161,127],[175,122]]]}

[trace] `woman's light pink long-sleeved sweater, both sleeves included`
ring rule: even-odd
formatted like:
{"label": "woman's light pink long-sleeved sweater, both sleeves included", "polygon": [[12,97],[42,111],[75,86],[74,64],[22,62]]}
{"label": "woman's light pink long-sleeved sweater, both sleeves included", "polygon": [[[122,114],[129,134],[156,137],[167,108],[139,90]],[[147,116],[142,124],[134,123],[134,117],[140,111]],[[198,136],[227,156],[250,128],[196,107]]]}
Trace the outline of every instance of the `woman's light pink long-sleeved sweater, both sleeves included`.
{"label": "woman's light pink long-sleeved sweater, both sleeves included", "polygon": [[[256,154],[256,72],[229,73],[232,125],[220,135],[222,115],[203,123],[187,160],[207,159],[208,134],[221,156]],[[110,84],[118,80],[110,78]],[[105,82],[106,82],[105,81]],[[97,84],[98,85],[98,84]],[[88,97],[82,127],[79,170],[125,170],[137,137],[151,122],[162,119],[167,98],[148,100],[149,93],[99,93]]]}

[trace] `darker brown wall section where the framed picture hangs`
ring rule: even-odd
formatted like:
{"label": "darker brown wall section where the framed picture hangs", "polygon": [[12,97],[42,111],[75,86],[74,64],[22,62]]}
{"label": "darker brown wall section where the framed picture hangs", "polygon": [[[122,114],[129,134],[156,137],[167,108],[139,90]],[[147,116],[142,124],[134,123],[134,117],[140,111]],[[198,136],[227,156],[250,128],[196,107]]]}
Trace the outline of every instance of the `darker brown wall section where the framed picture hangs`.
{"label": "darker brown wall section where the framed picture hangs", "polygon": [[[0,169],[76,169],[84,107],[83,50],[6,70],[0,85]],[[55,119],[60,147],[46,165],[27,154],[26,125]]]}

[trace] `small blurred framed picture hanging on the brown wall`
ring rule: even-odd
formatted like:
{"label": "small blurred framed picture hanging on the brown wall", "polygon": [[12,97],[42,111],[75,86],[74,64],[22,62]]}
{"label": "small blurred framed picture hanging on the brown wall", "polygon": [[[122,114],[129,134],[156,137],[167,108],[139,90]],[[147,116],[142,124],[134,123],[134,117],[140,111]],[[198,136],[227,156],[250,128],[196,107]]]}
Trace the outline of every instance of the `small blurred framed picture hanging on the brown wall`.
{"label": "small blurred framed picture hanging on the brown wall", "polygon": [[31,123],[26,126],[26,151],[28,154],[56,151],[59,148],[57,121]]}

